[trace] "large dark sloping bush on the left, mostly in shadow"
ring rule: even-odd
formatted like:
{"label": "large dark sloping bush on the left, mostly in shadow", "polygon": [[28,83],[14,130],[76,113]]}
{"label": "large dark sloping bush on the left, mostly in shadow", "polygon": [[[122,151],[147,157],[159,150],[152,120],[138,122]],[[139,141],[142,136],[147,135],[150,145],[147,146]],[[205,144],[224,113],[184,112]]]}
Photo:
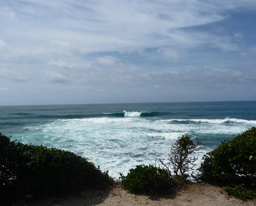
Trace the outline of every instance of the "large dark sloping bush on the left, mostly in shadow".
{"label": "large dark sloping bush on the left, mostly in shadow", "polygon": [[11,142],[0,133],[1,198],[70,193],[83,187],[107,187],[113,180],[75,153]]}

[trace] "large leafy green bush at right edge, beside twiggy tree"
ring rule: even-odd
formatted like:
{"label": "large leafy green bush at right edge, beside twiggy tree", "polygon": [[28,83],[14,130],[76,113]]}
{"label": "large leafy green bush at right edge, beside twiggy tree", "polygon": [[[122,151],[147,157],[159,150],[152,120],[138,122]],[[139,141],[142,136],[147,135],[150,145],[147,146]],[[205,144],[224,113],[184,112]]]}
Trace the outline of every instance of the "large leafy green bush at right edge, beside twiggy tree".
{"label": "large leafy green bush at right edge, beside twiggy tree", "polygon": [[208,152],[199,168],[200,179],[208,182],[256,184],[256,127],[221,142]]}

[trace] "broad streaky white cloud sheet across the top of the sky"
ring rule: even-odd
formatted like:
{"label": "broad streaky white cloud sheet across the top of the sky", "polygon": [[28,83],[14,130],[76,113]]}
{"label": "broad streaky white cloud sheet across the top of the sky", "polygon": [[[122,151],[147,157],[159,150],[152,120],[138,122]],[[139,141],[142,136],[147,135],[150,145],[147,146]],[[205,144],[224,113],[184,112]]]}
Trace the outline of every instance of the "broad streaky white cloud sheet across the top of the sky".
{"label": "broad streaky white cloud sheet across the top of the sky", "polygon": [[[180,28],[221,21],[226,16],[218,14],[220,11],[242,7],[238,1],[229,4],[194,1],[187,6],[187,2],[182,1],[152,1],[150,4],[146,1],[140,4],[128,1],[76,4],[72,1],[26,2],[14,4],[12,8],[19,14],[17,22],[23,29],[18,28],[25,30],[17,30],[20,40],[27,44],[50,40],[50,44],[58,50],[79,48],[86,53],[124,51],[126,48],[139,50],[152,45],[165,47],[184,44],[187,40],[187,44],[191,44],[197,40],[197,33],[188,35]],[[249,3],[245,1],[243,6]],[[5,10],[11,10],[7,6]],[[15,37],[15,33],[12,35]]]}

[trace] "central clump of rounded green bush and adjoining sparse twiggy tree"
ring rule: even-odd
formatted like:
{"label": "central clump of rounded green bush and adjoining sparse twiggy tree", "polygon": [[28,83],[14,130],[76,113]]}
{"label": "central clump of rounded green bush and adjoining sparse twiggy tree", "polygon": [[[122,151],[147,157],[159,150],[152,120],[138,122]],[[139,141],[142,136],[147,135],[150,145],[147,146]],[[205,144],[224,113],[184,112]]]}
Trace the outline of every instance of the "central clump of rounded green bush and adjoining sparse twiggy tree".
{"label": "central clump of rounded green bush and adjoining sparse twiggy tree", "polygon": [[129,170],[127,176],[120,174],[121,183],[131,193],[161,194],[174,191],[189,183],[187,172],[194,170],[201,143],[198,139],[193,141],[189,136],[182,135],[170,148],[167,162],[160,160],[158,167],[137,165]]}

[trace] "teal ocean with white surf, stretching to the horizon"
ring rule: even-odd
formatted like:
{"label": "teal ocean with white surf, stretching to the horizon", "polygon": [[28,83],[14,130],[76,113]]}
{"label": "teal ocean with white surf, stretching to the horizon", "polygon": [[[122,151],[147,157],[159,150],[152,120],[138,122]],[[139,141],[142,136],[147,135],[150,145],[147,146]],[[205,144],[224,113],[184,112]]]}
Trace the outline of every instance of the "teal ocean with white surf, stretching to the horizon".
{"label": "teal ocean with white surf, stretching to the horizon", "polygon": [[2,134],[75,152],[116,179],[138,164],[167,159],[181,135],[204,140],[201,160],[253,126],[256,101],[0,106]]}

